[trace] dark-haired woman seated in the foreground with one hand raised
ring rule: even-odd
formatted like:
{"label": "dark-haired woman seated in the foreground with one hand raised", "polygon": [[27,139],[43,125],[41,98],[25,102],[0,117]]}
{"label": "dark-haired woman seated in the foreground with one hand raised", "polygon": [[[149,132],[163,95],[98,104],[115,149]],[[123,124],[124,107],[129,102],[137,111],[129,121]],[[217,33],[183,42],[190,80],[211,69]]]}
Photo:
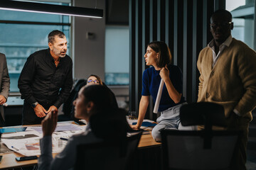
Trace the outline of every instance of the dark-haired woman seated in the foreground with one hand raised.
{"label": "dark-haired woman seated in the foreground with one hand raised", "polygon": [[[43,138],[40,140],[41,156],[38,169],[70,169],[75,166],[78,145],[114,140],[124,142],[129,125],[124,114],[113,107],[109,89],[106,86],[92,85],[80,89],[74,101],[75,117],[85,119],[85,132],[73,135],[60,154],[53,159],[52,134],[57,124],[58,113],[51,112],[42,121]],[[107,126],[114,130],[109,130]]]}

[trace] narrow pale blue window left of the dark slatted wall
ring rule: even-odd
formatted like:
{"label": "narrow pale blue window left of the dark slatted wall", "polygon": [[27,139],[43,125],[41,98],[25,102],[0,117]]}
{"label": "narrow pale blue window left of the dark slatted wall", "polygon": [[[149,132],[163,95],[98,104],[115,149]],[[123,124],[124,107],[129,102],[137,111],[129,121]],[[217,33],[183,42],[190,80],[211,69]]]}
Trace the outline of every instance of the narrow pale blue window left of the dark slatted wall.
{"label": "narrow pale blue window left of the dark slatted wall", "polygon": [[128,85],[129,27],[107,26],[105,36],[105,83]]}

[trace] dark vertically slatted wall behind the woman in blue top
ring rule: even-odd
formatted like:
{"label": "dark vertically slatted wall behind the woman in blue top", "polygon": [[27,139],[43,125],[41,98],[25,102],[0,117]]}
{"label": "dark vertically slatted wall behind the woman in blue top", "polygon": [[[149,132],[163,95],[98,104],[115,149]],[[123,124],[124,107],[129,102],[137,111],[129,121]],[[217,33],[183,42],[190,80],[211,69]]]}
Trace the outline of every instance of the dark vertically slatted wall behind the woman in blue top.
{"label": "dark vertically slatted wall behind the woman in blue top", "polygon": [[[173,63],[183,72],[183,96],[196,102],[199,52],[212,39],[210,15],[225,7],[223,0],[129,0],[130,110],[139,111],[146,45],[161,40],[169,45]],[[149,113],[152,113],[150,104]],[[146,118],[153,118],[146,114]]]}

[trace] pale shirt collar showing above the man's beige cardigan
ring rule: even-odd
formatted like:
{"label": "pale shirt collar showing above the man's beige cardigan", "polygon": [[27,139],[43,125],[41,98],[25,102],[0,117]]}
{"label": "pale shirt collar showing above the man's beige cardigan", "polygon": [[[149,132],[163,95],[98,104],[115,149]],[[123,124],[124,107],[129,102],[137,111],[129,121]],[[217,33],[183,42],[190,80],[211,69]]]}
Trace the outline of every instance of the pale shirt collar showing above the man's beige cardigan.
{"label": "pale shirt collar showing above the man's beige cardigan", "polygon": [[218,52],[218,54],[215,54],[215,47],[214,47],[214,40],[211,40],[208,43],[208,47],[210,47],[210,49],[213,51],[213,67],[216,64],[218,57],[220,56],[221,52],[223,52],[223,50],[225,49],[225,47],[229,47],[230,43],[232,42],[232,35],[230,35],[227,40],[225,40],[221,45],[220,45],[220,50]]}

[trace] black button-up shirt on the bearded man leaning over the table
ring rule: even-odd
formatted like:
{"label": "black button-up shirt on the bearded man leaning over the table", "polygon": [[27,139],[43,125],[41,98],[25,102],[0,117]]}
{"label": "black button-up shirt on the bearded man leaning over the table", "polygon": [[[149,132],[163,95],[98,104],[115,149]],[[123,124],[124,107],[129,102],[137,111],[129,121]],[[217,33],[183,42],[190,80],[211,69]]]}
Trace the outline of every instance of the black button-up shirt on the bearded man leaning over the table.
{"label": "black button-up shirt on the bearded man leaning over the table", "polygon": [[60,57],[55,66],[50,49],[34,52],[28,57],[18,79],[21,98],[32,104],[48,103],[57,108],[68,99],[73,86],[72,60]]}

